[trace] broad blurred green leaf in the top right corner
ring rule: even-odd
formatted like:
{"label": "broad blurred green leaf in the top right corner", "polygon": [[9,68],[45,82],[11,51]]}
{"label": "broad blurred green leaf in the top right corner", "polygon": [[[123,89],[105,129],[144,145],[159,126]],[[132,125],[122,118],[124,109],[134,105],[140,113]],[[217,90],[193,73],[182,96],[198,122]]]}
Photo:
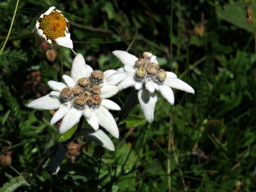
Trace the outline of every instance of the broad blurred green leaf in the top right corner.
{"label": "broad blurred green leaf in the top right corner", "polygon": [[[219,6],[216,8],[217,15],[235,26],[247,30],[248,32],[254,32],[253,24],[249,24],[246,19],[246,4],[244,2],[233,2],[232,4],[226,4],[223,9]],[[253,12],[256,12],[256,5],[252,4]]]}

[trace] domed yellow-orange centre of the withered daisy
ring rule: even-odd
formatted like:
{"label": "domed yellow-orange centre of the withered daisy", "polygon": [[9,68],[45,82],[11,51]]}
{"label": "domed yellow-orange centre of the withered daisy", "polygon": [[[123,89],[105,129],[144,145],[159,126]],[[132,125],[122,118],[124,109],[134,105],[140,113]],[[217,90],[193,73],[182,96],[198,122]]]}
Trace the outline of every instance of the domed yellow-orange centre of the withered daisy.
{"label": "domed yellow-orange centre of the withered daisy", "polygon": [[48,39],[55,40],[65,36],[66,21],[64,16],[58,12],[51,12],[45,15],[40,27]]}

